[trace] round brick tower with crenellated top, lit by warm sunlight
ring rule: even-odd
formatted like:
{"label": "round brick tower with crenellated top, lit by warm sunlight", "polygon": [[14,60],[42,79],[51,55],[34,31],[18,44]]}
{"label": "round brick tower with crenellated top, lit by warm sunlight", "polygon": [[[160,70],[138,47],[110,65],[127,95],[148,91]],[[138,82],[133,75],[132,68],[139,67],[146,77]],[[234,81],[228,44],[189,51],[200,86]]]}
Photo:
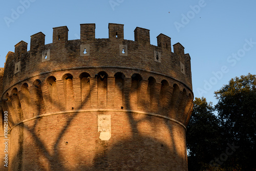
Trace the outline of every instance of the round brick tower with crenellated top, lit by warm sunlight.
{"label": "round brick tower with crenellated top, lit by warm sunlight", "polygon": [[[80,39],[53,28],[15,45],[0,69],[0,147],[8,113],[9,170],[187,170],[186,125],[193,106],[190,56],[178,42],[123,25]],[[5,154],[0,152],[1,163]],[[5,170],[3,164],[1,170]]]}

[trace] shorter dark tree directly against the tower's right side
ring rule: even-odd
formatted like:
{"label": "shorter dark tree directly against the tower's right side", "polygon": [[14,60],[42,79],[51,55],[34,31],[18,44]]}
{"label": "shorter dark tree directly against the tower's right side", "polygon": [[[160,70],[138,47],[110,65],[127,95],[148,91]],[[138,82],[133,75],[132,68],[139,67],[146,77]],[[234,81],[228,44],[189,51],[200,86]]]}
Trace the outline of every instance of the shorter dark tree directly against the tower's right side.
{"label": "shorter dark tree directly against the tower's right side", "polygon": [[220,121],[212,103],[204,97],[195,98],[187,125],[188,170],[209,169],[209,162],[220,155]]}

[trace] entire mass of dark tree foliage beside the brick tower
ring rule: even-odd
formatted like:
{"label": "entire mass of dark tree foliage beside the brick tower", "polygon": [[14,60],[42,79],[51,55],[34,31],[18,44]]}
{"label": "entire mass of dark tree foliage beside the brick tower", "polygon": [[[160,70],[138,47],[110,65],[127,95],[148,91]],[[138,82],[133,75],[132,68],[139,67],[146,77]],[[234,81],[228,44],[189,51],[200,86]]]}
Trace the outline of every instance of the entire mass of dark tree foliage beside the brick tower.
{"label": "entire mass of dark tree foliage beside the brick tower", "polygon": [[256,75],[231,79],[215,96],[215,107],[195,98],[187,126],[188,169],[256,170]]}

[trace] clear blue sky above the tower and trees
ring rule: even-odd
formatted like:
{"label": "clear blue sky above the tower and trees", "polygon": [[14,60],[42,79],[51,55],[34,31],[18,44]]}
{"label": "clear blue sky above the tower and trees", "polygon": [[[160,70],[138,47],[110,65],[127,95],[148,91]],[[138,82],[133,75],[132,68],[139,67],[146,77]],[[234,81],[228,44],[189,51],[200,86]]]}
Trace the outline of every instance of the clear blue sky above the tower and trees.
{"label": "clear blue sky above the tower and trees", "polygon": [[[67,26],[79,39],[80,24],[95,23],[96,38],[108,38],[108,23],[124,24],[124,38],[134,29],[150,29],[151,44],[163,33],[180,42],[191,57],[195,97],[216,104],[214,91],[231,78],[256,74],[256,1],[5,1],[0,6],[0,67],[20,40],[42,32],[52,42],[52,28]],[[254,43],[255,42],[255,43]],[[214,74],[215,73],[215,74]]]}

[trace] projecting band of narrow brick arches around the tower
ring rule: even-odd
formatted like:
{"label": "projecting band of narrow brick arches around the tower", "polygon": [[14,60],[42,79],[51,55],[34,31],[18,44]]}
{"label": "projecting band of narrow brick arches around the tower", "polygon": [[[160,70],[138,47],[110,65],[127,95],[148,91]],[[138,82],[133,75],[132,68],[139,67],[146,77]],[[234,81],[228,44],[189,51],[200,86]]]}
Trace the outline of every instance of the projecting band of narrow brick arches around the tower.
{"label": "projecting band of narrow brick arches around the tower", "polygon": [[[130,83],[126,82],[129,82],[129,78],[121,72],[117,72],[114,78],[104,71],[93,77],[87,72],[81,73],[79,78],[64,74],[62,80],[49,76],[44,84],[37,79],[30,87],[25,82],[19,91],[13,88],[10,94],[5,95],[5,107],[11,113],[11,125],[49,111],[93,108],[156,113],[186,125],[193,105],[193,97],[186,89],[181,91],[176,83],[170,87],[165,79],[157,83],[152,76],[143,80],[140,74],[133,74]],[[76,104],[77,94],[79,105]]]}

